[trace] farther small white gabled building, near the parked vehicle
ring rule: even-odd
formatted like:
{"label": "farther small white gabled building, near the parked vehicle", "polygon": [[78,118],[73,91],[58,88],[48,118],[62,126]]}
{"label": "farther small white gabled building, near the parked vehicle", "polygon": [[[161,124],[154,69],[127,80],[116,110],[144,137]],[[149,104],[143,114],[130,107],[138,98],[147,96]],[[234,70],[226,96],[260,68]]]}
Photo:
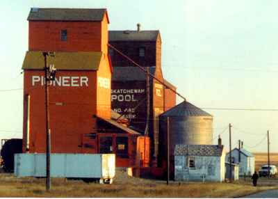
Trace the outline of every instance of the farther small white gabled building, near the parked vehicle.
{"label": "farther small white gabled building, near the parked vehicle", "polygon": [[[229,152],[226,154],[226,161],[229,162]],[[238,164],[239,175],[253,175],[255,171],[255,157],[254,155],[245,150],[234,148],[231,150],[231,163]]]}

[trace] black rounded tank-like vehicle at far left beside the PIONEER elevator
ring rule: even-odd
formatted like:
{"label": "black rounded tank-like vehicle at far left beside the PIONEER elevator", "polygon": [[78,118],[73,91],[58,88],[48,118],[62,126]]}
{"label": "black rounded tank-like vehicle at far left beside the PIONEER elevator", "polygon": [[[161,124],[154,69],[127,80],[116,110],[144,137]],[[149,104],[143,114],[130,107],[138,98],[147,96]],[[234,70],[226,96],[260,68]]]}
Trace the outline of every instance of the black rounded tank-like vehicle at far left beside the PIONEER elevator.
{"label": "black rounded tank-like vehicle at far left beside the PIONEER elevator", "polygon": [[10,139],[4,143],[1,149],[1,166],[5,172],[13,172],[15,153],[22,153],[22,139]]}

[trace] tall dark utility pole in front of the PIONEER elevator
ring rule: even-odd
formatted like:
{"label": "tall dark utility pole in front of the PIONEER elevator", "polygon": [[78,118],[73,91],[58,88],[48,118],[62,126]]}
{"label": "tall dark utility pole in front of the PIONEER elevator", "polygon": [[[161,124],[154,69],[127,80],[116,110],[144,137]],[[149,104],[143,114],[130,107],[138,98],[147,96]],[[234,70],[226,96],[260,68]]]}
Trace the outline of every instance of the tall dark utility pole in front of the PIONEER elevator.
{"label": "tall dark utility pole in front of the PIONEER elevator", "polygon": [[54,56],[50,52],[42,52],[44,56],[44,95],[45,95],[45,134],[46,134],[46,189],[49,191],[51,189],[51,178],[50,178],[50,153],[51,153],[51,136],[49,128],[49,88],[48,81],[55,79],[56,69],[54,65],[52,67],[47,67],[47,56]]}

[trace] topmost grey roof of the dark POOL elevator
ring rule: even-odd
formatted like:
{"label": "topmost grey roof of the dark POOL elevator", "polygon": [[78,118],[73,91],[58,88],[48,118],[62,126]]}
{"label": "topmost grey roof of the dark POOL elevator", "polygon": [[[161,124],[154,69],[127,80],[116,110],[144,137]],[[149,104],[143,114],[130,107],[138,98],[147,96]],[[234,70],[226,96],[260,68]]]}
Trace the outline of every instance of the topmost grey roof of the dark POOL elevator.
{"label": "topmost grey roof of the dark POOL elevator", "polygon": [[156,41],[159,31],[109,31],[109,41]]}

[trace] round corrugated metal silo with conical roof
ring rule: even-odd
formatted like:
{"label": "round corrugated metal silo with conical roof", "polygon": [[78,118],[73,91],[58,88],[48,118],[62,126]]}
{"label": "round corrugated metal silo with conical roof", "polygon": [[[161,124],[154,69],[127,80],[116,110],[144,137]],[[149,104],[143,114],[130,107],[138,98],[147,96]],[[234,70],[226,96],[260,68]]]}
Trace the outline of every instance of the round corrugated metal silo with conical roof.
{"label": "round corrugated metal silo with conical roof", "polygon": [[160,158],[158,159],[166,159],[167,118],[169,118],[171,157],[174,155],[175,145],[212,145],[213,116],[197,106],[184,101],[159,117],[158,157]]}

